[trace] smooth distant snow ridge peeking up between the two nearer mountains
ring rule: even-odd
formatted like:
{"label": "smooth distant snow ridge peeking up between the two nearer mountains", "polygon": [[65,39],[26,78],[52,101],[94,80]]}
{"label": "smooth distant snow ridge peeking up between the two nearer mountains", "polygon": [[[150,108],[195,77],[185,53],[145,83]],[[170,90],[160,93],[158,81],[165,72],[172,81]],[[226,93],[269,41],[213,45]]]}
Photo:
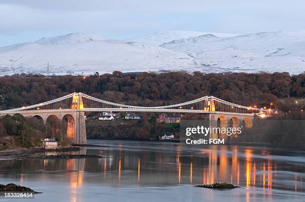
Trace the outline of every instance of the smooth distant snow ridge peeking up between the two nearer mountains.
{"label": "smooth distant snow ridge peeking up between the two nearer mountains", "polygon": [[143,36],[135,37],[129,39],[130,41],[135,41],[137,43],[150,44],[154,46],[162,45],[163,43],[178,40],[188,37],[196,37],[205,34],[213,34],[218,37],[232,37],[237,36],[237,34],[227,34],[227,33],[206,33],[198,31],[160,31],[146,34]]}

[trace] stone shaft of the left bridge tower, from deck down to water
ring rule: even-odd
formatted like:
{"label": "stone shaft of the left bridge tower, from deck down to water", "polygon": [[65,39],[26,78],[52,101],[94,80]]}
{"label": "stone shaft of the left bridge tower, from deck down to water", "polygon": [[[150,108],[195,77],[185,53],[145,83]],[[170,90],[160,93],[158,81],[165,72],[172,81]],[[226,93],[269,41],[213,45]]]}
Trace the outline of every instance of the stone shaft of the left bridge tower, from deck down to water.
{"label": "stone shaft of the left bridge tower, from deck down to water", "polygon": [[74,144],[87,144],[85,112],[76,112]]}

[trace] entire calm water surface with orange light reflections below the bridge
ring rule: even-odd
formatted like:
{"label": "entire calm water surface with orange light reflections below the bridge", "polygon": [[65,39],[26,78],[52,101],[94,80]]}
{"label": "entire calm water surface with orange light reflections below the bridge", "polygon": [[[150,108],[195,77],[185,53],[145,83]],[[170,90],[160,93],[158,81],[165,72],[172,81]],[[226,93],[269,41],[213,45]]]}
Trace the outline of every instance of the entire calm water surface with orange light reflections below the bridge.
{"label": "entire calm water surface with orange light reflections below the bridge", "polygon": [[[42,192],[35,195],[38,202],[305,201],[304,150],[196,148],[143,141],[88,143],[103,147],[73,153],[106,158],[0,160],[0,183]],[[221,191],[192,186],[214,182],[241,188]]]}

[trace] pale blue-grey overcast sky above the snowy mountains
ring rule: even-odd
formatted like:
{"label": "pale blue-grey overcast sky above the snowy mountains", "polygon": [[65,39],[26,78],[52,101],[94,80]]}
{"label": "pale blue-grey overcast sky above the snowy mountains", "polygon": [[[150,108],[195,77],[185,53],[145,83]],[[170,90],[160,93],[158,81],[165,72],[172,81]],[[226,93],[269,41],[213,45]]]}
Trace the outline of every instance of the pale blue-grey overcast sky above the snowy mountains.
{"label": "pale blue-grey overcast sky above the snowy mountains", "polygon": [[305,30],[304,0],[0,0],[0,46],[72,32]]}

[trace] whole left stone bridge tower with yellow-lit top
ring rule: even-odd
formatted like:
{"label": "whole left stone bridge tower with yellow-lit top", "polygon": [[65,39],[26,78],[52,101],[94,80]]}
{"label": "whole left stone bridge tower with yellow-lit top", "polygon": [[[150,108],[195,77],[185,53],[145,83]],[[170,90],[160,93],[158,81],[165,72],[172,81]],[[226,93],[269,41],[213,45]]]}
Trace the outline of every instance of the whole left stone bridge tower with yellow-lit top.
{"label": "whole left stone bridge tower with yellow-lit top", "polygon": [[[82,100],[82,93],[76,93],[72,97],[71,108],[76,110],[74,123],[68,121],[68,131],[69,128],[72,132],[74,127],[74,143],[75,144],[87,144],[86,137],[86,125],[85,125],[85,111],[84,104]],[[70,127],[69,127],[70,126]],[[69,136],[69,133],[68,133]]]}

